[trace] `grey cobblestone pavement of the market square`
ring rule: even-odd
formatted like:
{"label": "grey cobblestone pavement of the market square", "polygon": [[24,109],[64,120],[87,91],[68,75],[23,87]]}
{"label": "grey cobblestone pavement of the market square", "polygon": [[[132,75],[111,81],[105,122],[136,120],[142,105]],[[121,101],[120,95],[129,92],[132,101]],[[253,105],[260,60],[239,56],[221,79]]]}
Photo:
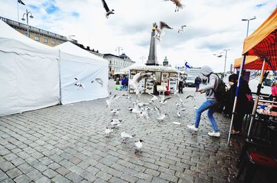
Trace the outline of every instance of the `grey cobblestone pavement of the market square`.
{"label": "grey cobblestone pavement of the market square", "polygon": [[[125,93],[114,90],[113,83],[112,93]],[[193,91],[184,88],[181,97]],[[148,98],[142,95],[141,101]],[[118,99],[111,108],[121,109],[117,117],[123,124],[109,138],[105,127],[111,113],[105,100],[0,117],[0,182],[236,182],[240,143],[226,145],[229,119],[215,113],[220,138],[207,135],[212,128],[206,113],[197,133],[186,128],[194,122],[193,106],[199,106],[204,95],[189,99],[181,117],[177,97],[165,106],[158,104],[168,115],[165,122],[157,122],[154,111],[150,119],[136,119],[127,110],[128,99]],[[123,131],[136,137],[123,144]],[[144,140],[139,154],[134,153],[136,139]]]}

